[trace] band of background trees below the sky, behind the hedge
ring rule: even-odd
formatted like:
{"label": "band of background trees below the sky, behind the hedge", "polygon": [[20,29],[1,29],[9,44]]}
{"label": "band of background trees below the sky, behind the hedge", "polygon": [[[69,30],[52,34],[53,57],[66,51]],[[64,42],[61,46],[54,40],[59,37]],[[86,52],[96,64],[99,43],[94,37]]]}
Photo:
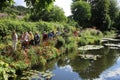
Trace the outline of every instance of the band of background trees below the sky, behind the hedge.
{"label": "band of background trees below the sky, behind the hedge", "polygon": [[102,31],[119,29],[120,10],[117,0],[73,0],[72,15],[68,18],[61,8],[53,5],[54,0],[43,1],[43,4],[41,1],[25,0],[28,8],[12,6],[2,9],[2,12],[23,15],[25,21],[65,22],[82,28],[94,26]]}

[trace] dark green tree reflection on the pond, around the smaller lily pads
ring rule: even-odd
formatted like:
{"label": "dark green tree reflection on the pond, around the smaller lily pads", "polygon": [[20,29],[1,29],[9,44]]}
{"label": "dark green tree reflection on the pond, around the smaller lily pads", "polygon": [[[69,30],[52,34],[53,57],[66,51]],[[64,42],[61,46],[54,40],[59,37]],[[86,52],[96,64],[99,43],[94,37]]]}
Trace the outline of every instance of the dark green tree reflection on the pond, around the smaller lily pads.
{"label": "dark green tree reflection on the pond, around the smaller lily pads", "polygon": [[97,51],[87,51],[84,54],[100,54],[102,58],[94,60],[84,60],[74,58],[71,60],[71,65],[75,72],[78,72],[82,79],[96,79],[99,75],[112,66],[117,57],[117,51],[105,48]]}

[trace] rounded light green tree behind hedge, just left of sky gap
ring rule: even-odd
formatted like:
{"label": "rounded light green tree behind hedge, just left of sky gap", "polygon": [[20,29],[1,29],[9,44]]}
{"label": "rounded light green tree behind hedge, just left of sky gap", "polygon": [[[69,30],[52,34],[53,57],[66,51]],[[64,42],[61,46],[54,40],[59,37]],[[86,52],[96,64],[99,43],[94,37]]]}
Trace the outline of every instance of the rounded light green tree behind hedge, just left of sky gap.
{"label": "rounded light green tree behind hedge, just left of sky gap", "polygon": [[53,6],[49,11],[43,10],[39,12],[38,15],[32,15],[31,19],[33,21],[43,20],[43,21],[57,21],[57,22],[66,22],[67,18],[64,15],[63,9],[58,6]]}

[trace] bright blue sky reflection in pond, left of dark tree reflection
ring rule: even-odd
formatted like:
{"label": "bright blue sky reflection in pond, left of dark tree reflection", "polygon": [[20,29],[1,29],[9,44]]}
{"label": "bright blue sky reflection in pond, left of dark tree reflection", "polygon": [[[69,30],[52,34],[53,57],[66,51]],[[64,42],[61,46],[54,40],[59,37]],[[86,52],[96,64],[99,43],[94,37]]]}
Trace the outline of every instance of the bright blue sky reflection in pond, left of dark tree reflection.
{"label": "bright blue sky reflection in pond, left of dark tree reflection", "polygon": [[79,77],[79,74],[74,72],[70,65],[58,67],[56,64],[53,73],[55,76],[52,78],[52,80],[82,80]]}

